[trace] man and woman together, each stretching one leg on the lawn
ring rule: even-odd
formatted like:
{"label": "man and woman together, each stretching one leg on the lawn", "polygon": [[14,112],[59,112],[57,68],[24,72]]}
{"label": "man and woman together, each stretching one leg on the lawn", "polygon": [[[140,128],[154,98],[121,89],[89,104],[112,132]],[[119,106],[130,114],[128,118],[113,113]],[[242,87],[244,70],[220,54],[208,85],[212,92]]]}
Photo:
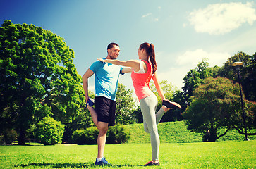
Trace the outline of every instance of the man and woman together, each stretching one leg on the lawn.
{"label": "man and woman together, each stretching one leg on the lawn", "polygon": [[[118,44],[111,43],[107,47],[108,56],[98,59],[83,75],[83,88],[92,120],[99,129],[97,138],[98,155],[95,165],[109,165],[104,158],[104,146],[106,144],[106,132],[109,126],[115,125],[116,111],[116,91],[119,74],[130,73],[133,80],[135,94],[140,101],[140,108],[143,115],[145,132],[150,133],[152,146],[152,161],[145,166],[159,165],[159,135],[157,124],[164,113],[171,108],[181,108],[179,104],[165,99],[159,80],[157,78],[157,63],[155,61],[154,45],[143,43],[138,49],[138,61],[118,61],[120,48]],[[121,66],[125,66],[122,68]],[[95,74],[95,108],[92,108],[93,101],[88,96],[88,78]],[[153,79],[155,87],[163,106],[155,113],[157,108],[157,96],[149,87],[150,80]]]}

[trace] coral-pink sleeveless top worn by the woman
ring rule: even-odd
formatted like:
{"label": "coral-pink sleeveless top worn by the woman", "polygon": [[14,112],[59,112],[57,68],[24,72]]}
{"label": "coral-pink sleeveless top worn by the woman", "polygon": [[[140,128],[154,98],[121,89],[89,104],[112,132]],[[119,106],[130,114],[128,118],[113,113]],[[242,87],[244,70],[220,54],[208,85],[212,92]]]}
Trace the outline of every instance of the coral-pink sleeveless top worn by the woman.
{"label": "coral-pink sleeveless top worn by the woman", "polygon": [[[142,60],[143,61],[143,60]],[[153,92],[150,89],[150,80],[152,78],[152,65],[147,61],[146,73],[135,73],[134,70],[131,73],[133,80],[133,87],[135,89],[135,94],[138,96],[139,101],[147,96],[150,96]]]}

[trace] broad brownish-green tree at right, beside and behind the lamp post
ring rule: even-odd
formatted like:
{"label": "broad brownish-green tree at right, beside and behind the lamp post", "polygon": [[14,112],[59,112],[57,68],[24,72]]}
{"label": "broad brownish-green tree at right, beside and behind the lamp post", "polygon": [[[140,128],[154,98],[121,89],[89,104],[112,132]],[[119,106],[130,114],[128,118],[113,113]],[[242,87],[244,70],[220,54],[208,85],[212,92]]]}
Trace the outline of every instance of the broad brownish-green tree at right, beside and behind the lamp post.
{"label": "broad brownish-green tree at right, beside and behind the lamp post", "polygon": [[[245,113],[248,128],[255,128],[256,104],[245,100]],[[238,84],[224,77],[205,79],[204,84],[193,92],[191,106],[183,113],[188,130],[209,135],[215,141],[236,129],[243,133],[243,118]],[[219,133],[219,129],[226,132]],[[248,134],[250,135],[250,134]]]}

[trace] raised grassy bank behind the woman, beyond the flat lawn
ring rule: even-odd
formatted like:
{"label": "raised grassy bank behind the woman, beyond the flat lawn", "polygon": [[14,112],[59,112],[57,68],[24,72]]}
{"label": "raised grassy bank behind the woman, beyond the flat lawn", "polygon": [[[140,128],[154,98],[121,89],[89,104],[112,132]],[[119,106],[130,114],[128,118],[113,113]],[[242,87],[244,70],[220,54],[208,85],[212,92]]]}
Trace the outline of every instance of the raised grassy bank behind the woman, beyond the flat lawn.
{"label": "raised grassy bank behind the woman, beyond the flat lawn", "polygon": [[[124,125],[125,130],[130,132],[130,139],[128,143],[150,143],[150,134],[146,133],[143,124]],[[161,143],[189,143],[189,142],[202,142],[202,136],[195,132],[187,130],[183,121],[159,123],[157,125]],[[220,133],[224,133],[221,130]],[[256,132],[253,130],[252,132]],[[256,136],[249,136],[251,140],[256,140]],[[227,132],[224,137],[217,139],[219,141],[242,141],[245,136],[239,134],[236,130]]]}

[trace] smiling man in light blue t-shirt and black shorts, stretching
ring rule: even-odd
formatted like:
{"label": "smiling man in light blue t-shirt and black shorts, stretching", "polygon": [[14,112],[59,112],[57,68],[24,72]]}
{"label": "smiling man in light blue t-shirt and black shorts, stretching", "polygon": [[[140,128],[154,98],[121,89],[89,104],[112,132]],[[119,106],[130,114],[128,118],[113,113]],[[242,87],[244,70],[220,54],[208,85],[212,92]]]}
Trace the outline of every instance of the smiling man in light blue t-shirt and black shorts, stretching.
{"label": "smiling man in light blue t-shirt and black shorts, stretching", "polygon": [[[107,47],[108,56],[105,59],[116,59],[120,48],[116,43]],[[83,75],[83,89],[87,108],[92,115],[92,121],[99,129],[97,138],[98,155],[95,165],[109,165],[104,158],[104,147],[106,144],[106,132],[109,126],[115,125],[116,91],[118,87],[119,74],[131,72],[131,68],[121,68],[118,65],[95,61]],[[95,74],[95,108],[88,96],[88,78]]]}

